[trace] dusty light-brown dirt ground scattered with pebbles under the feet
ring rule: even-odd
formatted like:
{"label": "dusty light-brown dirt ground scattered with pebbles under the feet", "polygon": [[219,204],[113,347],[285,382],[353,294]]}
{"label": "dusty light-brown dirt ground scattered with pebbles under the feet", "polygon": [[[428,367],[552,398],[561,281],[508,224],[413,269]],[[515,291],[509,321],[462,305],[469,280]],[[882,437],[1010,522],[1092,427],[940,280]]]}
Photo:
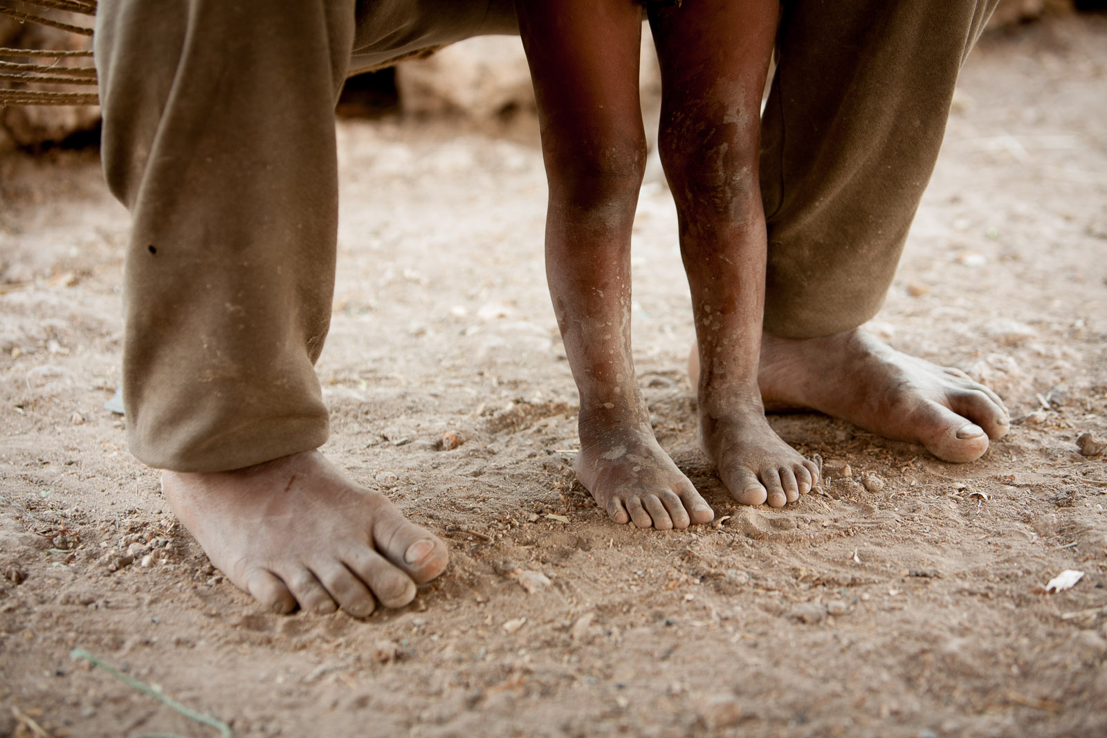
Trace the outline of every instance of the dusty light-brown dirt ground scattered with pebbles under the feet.
{"label": "dusty light-brown dirt ground scattered with pebbles under the feet", "polygon": [[973,53],[872,324],[1005,397],[1015,426],[975,464],[775,416],[829,478],[730,505],[682,373],[675,216],[645,185],[635,356],[710,527],[619,527],[573,481],[536,137],[339,126],[324,450],[453,549],[364,622],[260,612],[210,569],[102,409],[126,214],[92,154],[0,163],[0,735],[216,735],[75,647],[235,736],[1107,735],[1107,466],[1076,444],[1107,436],[1107,18]]}

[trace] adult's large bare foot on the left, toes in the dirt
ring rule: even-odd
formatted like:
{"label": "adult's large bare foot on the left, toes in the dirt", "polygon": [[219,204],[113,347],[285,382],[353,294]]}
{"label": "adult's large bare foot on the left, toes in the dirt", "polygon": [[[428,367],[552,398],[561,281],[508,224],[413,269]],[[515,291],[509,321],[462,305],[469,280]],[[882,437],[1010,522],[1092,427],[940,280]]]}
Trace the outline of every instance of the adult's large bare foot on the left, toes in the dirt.
{"label": "adult's large bare foot on the left, toes in the dirt", "polygon": [[162,489],[204,551],[277,613],[400,607],[446,568],[441,540],[318,451],[215,474],[165,471]]}

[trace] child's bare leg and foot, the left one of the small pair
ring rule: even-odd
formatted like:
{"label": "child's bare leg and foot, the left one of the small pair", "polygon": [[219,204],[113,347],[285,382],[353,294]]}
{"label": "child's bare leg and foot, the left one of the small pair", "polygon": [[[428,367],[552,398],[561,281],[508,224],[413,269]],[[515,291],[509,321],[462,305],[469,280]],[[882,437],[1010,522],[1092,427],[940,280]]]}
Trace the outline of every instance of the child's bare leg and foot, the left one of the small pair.
{"label": "child's bare leg and foot, the left one of the small pair", "polygon": [[580,392],[581,484],[617,522],[684,528],[711,508],[650,427],[630,345],[630,237],[645,164],[641,9],[519,0],[550,185],[546,264]]}

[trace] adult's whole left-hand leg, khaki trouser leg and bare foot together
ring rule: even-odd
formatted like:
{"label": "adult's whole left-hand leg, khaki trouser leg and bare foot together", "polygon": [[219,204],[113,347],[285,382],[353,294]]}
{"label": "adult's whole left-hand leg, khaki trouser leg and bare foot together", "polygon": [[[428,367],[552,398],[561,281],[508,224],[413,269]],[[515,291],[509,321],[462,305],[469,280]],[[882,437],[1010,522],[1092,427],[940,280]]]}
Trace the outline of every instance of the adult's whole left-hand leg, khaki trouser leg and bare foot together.
{"label": "adult's whole left-hand leg, khaki trouser leg and bare foot together", "polygon": [[213,562],[282,612],[400,604],[446,562],[311,450],[353,4],[103,0],[96,19],[105,175],[134,217],[128,440]]}

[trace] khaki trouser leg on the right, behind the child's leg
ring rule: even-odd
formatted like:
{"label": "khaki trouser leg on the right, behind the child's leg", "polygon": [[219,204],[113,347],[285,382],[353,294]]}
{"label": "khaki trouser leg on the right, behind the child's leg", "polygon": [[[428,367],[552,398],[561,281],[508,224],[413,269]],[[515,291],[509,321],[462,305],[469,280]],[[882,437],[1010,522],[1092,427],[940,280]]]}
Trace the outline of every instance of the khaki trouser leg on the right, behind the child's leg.
{"label": "khaki trouser leg on the right, behind the child's leg", "polygon": [[767,333],[829,335],[880,309],[996,1],[784,0],[762,123]]}

